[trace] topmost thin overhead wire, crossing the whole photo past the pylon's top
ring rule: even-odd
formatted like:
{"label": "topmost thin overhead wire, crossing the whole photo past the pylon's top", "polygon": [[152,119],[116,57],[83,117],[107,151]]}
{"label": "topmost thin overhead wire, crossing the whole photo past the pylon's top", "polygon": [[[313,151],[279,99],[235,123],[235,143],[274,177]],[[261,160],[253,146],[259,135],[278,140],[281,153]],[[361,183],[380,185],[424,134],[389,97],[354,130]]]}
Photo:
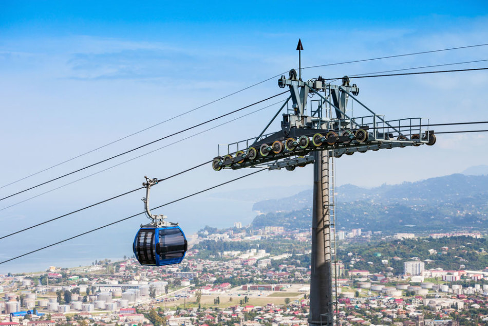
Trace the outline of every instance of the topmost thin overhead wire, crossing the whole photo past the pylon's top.
{"label": "topmost thin overhead wire, crossing the whole photo past the pylon's top", "polygon": [[[401,54],[401,55],[393,55],[393,56],[386,56],[386,57],[377,57],[377,58],[369,58],[369,59],[361,59],[361,60],[352,60],[352,61],[345,61],[345,62],[336,62],[336,63],[330,63],[330,64],[323,64],[323,65],[315,65],[315,66],[303,67],[302,69],[309,69],[309,68],[316,68],[316,67],[326,67],[326,66],[334,66],[334,65],[343,65],[343,64],[349,64],[349,63],[366,62],[366,61],[374,61],[374,60],[382,60],[382,59],[390,59],[390,58],[398,58],[398,57],[406,57],[406,56],[415,56],[415,55],[422,55],[422,54],[426,54],[426,53],[435,53],[435,52],[442,52],[442,51],[450,51],[450,50],[458,50],[458,49],[465,49],[465,48],[481,47],[481,46],[486,46],[486,45],[488,45],[488,43],[485,43],[485,44],[477,44],[477,45],[469,45],[469,46],[460,46],[460,47],[453,47],[453,48],[445,48],[445,49],[438,49],[438,50],[429,50],[429,51],[421,51],[421,52],[403,53],[403,54]],[[116,143],[116,142],[119,142],[119,141],[121,141],[121,140],[123,140],[123,139],[126,139],[126,138],[132,137],[132,136],[134,136],[134,135],[137,135],[137,134],[139,134],[139,133],[142,133],[142,132],[144,132],[144,131],[146,131],[146,130],[149,130],[149,129],[151,129],[151,128],[154,128],[155,126],[161,125],[161,124],[163,124],[163,123],[166,123],[166,122],[168,122],[168,121],[174,120],[174,119],[176,119],[176,118],[178,118],[178,117],[181,117],[181,116],[183,116],[183,115],[186,115],[186,114],[189,114],[189,113],[191,113],[191,112],[194,112],[194,111],[198,110],[199,108],[202,108],[202,107],[208,106],[208,105],[213,104],[213,103],[215,103],[215,102],[218,102],[218,101],[220,101],[220,100],[222,100],[222,99],[226,99],[226,98],[228,98],[228,97],[230,97],[230,96],[233,96],[233,95],[235,95],[235,94],[238,94],[238,93],[240,93],[240,92],[243,92],[244,90],[247,90],[247,89],[252,88],[252,87],[254,87],[254,86],[257,86],[257,85],[260,85],[260,84],[262,84],[262,83],[265,83],[265,82],[267,82],[267,81],[269,81],[269,80],[271,80],[271,79],[273,79],[273,78],[279,77],[279,76],[281,76],[281,75],[283,75],[283,74],[285,74],[285,73],[286,73],[286,71],[285,71],[284,73],[281,73],[281,74],[275,75],[275,76],[273,76],[273,77],[267,78],[267,79],[262,80],[262,81],[259,81],[259,82],[257,82],[257,83],[254,83],[254,84],[252,84],[252,85],[250,85],[250,86],[247,86],[247,87],[244,87],[244,88],[242,88],[242,89],[239,89],[239,90],[237,90],[236,92],[233,92],[233,93],[230,93],[230,94],[228,94],[228,95],[222,96],[222,97],[220,97],[220,98],[218,98],[218,99],[216,99],[216,100],[213,100],[213,101],[210,101],[210,102],[208,102],[208,103],[205,103],[205,104],[202,104],[202,105],[200,105],[200,106],[197,106],[197,107],[195,107],[195,108],[192,108],[192,109],[191,109],[191,110],[189,110],[189,111],[183,112],[183,113],[178,114],[178,115],[176,115],[176,116],[174,116],[174,117],[171,117],[171,118],[169,118],[169,119],[166,119],[166,120],[163,120],[163,121],[158,122],[158,123],[156,123],[156,124],[153,124],[153,125],[151,125],[151,126],[148,126],[147,128],[141,129],[141,130],[139,130],[139,131],[137,131],[137,132],[135,132],[135,133],[132,133],[132,134],[129,134],[129,135],[124,136],[124,137],[122,137],[122,138],[119,138],[119,139],[116,139],[116,140],[114,140],[114,141],[108,142],[108,143],[106,143],[106,144],[104,144],[104,145],[102,145],[102,146],[100,146],[100,147],[97,147],[97,148],[95,148],[95,149],[93,149],[93,150],[90,150],[90,151],[88,151],[88,152],[82,153],[82,154],[80,154],[80,155],[74,156],[74,157],[72,157],[72,158],[70,158],[70,159],[64,160],[64,161],[62,161],[62,162],[60,162],[60,163],[58,163],[58,164],[55,164],[55,165],[53,165],[53,166],[50,166],[50,167],[46,168],[46,169],[43,169],[43,170],[37,171],[37,172],[35,172],[35,173],[32,173],[32,174],[30,174],[30,175],[27,175],[27,176],[25,176],[25,177],[22,177],[22,178],[20,178],[20,179],[17,179],[17,180],[15,180],[15,181],[11,182],[11,183],[8,183],[8,184],[6,184],[6,185],[4,185],[4,186],[1,186],[1,187],[0,187],[0,189],[5,188],[5,187],[10,186],[10,185],[13,185],[13,184],[15,184],[15,183],[17,183],[17,182],[20,182],[20,181],[22,181],[22,180],[25,180],[25,179],[27,179],[27,178],[31,177],[31,176],[34,176],[34,175],[37,175],[37,174],[39,174],[39,173],[45,172],[45,171],[50,170],[50,169],[52,169],[52,168],[58,167],[58,166],[60,166],[60,165],[62,165],[62,164],[65,164],[65,163],[67,163],[67,162],[69,162],[69,161],[72,161],[72,160],[74,160],[74,159],[77,159],[77,158],[79,158],[79,157],[82,157],[82,156],[84,156],[84,155],[87,155],[87,154],[89,154],[89,153],[92,153],[92,152],[95,152],[95,151],[100,150],[100,149],[102,149],[102,148],[105,148],[105,147],[107,147],[107,146],[109,146],[109,145],[111,145],[111,144],[114,144],[114,143]],[[337,78],[337,79],[340,79],[340,78]]]}

